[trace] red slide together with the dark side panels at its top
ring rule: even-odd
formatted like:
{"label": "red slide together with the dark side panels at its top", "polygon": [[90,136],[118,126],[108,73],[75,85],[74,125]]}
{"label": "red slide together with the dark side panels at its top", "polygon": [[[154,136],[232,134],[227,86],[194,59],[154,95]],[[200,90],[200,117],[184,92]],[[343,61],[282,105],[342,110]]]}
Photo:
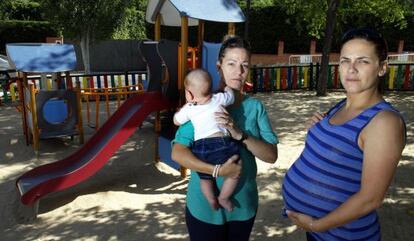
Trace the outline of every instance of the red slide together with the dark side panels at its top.
{"label": "red slide together with the dark side panels at its top", "polygon": [[[177,69],[178,43],[143,41],[141,45],[144,58],[144,52],[148,50],[147,54],[151,57],[158,56],[167,66],[168,75],[174,76],[174,72],[170,70]],[[156,52],[150,52],[150,49]],[[130,97],[75,153],[63,160],[36,167],[17,179],[16,186],[23,204],[34,205],[36,211],[38,200],[44,195],[69,188],[92,176],[105,165],[147,116],[176,107],[178,95],[174,93],[177,93],[177,81],[169,78],[161,82],[162,79],[157,78],[153,72],[155,70],[150,67],[152,60],[145,60],[149,71],[145,92],[128,92]]]}

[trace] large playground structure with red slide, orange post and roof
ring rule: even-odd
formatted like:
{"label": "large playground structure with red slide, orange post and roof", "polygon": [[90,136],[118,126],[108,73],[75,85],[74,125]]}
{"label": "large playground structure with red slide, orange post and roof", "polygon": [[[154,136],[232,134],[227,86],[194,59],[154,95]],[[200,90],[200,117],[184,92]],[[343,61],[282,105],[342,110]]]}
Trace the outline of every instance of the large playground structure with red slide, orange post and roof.
{"label": "large playground structure with red slide, orange post and roof", "polygon": [[[174,7],[177,10],[183,9],[185,6],[183,1],[159,1],[156,7],[158,11],[156,15],[159,16],[165,3],[171,4],[171,2],[174,2]],[[204,5],[211,5],[212,3],[213,6],[209,6],[209,8],[213,7],[214,10],[217,10],[215,7],[220,6],[223,16],[227,15],[228,9],[231,9],[232,6],[236,6],[236,10],[241,13],[240,8],[233,1],[228,1],[227,4],[230,4],[228,6],[223,6],[221,1],[203,1]],[[194,5],[194,2],[191,2],[191,4]],[[151,5],[149,4],[149,6]],[[199,3],[192,7],[206,10],[205,6],[200,6]],[[193,13],[199,14],[197,11]],[[191,15],[187,14],[191,14],[191,11],[180,13],[182,14],[181,20],[188,27],[187,17]],[[160,18],[158,17],[158,19]],[[234,28],[232,30],[234,31]],[[182,27],[182,33],[184,34],[182,35],[179,53],[178,43],[174,41],[156,39],[156,41],[140,43],[139,48],[148,70],[146,91],[127,99],[90,140],[74,154],[63,160],[37,167],[19,177],[16,186],[24,204],[34,205],[36,210],[39,199],[44,195],[69,188],[93,175],[152,112],[157,113],[155,129],[157,137],[160,136],[160,138],[157,138],[156,150],[159,151],[161,159],[170,158],[170,141],[174,135],[174,129],[171,128],[173,112],[169,112],[170,114],[164,112],[161,116],[160,111],[176,108],[177,99],[183,96],[182,81],[188,68],[186,27]],[[199,33],[201,34],[202,31]],[[201,43],[201,41],[199,42]],[[165,122],[170,125],[164,125]],[[161,125],[161,123],[163,124]],[[162,131],[165,141],[158,134],[160,131]],[[158,153],[156,155],[158,156]],[[183,169],[181,171],[182,174],[185,173]]]}

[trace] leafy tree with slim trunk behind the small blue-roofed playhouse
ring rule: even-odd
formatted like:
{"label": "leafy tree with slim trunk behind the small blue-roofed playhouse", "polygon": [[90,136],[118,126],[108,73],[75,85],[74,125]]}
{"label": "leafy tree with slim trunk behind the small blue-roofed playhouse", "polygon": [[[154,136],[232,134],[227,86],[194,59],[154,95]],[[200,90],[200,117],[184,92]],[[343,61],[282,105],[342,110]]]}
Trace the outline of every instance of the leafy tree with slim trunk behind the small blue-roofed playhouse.
{"label": "leafy tree with slim trunk behind the small blue-roofed playhouse", "polygon": [[130,0],[43,0],[44,18],[80,43],[85,72],[90,72],[89,47],[109,39],[122,21]]}

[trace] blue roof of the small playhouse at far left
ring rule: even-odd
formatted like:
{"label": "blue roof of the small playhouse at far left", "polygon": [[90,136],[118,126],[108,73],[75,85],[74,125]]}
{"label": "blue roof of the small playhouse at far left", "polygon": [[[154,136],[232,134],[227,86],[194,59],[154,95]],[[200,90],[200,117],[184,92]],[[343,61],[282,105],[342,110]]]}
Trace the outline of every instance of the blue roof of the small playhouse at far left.
{"label": "blue roof of the small playhouse at far left", "polygon": [[53,73],[76,68],[76,54],[71,44],[6,44],[13,68],[21,72]]}

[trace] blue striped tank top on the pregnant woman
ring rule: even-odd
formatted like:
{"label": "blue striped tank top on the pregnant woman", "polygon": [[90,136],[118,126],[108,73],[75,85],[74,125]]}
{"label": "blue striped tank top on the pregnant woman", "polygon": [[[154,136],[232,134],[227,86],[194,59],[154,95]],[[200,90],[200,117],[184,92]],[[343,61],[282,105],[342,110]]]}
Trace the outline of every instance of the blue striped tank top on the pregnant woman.
{"label": "blue striped tank top on the pregnant woman", "polygon": [[[398,111],[383,100],[342,125],[330,124],[329,119],[345,102],[339,102],[309,129],[302,154],[283,180],[282,195],[287,210],[321,218],[359,191],[363,161],[359,134],[379,112]],[[316,240],[329,241],[381,239],[375,211],[344,226],[311,235]]]}

